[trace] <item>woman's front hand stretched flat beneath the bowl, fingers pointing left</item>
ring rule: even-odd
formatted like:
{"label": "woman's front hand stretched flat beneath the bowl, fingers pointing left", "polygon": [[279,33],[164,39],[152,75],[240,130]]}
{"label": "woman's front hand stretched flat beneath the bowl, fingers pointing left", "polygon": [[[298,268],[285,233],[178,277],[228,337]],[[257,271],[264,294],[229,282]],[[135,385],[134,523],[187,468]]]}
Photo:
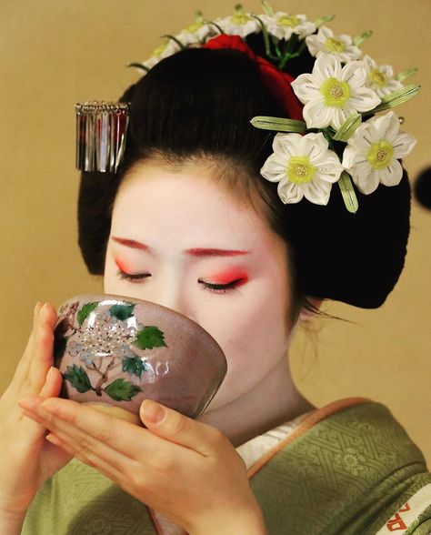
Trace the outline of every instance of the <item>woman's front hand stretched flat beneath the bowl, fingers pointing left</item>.
{"label": "woman's front hand stretched flat beneath the bowl, fingers pointing left", "polygon": [[246,466],[217,429],[145,399],[147,429],[67,399],[20,406],[46,439],[192,534],[265,533]]}

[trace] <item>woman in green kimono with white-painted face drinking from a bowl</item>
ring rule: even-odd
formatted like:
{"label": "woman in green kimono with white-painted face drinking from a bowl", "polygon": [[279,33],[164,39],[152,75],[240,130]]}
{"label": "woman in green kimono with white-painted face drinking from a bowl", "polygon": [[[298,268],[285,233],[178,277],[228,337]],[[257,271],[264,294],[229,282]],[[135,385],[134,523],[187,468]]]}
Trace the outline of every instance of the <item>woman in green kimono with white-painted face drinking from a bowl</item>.
{"label": "woman in green kimono with white-painted face drinking from a bowl", "polygon": [[[406,254],[406,173],[370,195],[359,181],[348,211],[337,140],[329,154],[321,133],[283,145],[250,124],[303,112],[286,74],[238,39],[177,52],[127,90],[124,159],[83,173],[79,199],[80,246],[105,292],[195,320],[223,348],[226,379],[196,420],[145,400],[147,429],[57,399],[55,309],[38,303],[0,406],[2,534],[431,530],[431,476],[405,430],[369,399],[314,408],[287,356],[323,299],[385,301]],[[260,39],[248,43],[261,51]],[[314,63],[302,49],[286,70]],[[292,156],[294,141],[305,154]],[[290,180],[274,177],[277,147]]]}

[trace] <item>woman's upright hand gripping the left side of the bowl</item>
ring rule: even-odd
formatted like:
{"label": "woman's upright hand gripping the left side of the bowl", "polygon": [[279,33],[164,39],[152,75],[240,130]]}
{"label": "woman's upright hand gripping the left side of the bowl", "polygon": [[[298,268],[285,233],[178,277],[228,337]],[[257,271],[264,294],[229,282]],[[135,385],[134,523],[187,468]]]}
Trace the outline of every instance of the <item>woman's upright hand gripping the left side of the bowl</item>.
{"label": "woman's upright hand gripping the left side of the bowl", "polygon": [[[46,441],[44,425],[23,415],[17,402],[27,394],[58,396],[62,376],[53,365],[55,308],[35,306],[33,331],[14,379],[0,399],[0,524],[25,515],[36,491],[71,459]],[[5,528],[2,528],[5,530]],[[2,531],[4,532],[4,531]]]}

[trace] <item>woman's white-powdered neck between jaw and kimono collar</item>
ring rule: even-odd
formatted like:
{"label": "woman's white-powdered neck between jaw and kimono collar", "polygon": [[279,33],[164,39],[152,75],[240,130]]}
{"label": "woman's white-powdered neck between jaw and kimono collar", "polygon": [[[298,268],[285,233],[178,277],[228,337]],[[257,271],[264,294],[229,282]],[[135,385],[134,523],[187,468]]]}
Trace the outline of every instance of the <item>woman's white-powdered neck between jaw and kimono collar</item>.
{"label": "woman's white-powdered neck between jaw and kimono collar", "polygon": [[286,358],[241,397],[197,419],[220,429],[237,447],[315,407],[296,389]]}

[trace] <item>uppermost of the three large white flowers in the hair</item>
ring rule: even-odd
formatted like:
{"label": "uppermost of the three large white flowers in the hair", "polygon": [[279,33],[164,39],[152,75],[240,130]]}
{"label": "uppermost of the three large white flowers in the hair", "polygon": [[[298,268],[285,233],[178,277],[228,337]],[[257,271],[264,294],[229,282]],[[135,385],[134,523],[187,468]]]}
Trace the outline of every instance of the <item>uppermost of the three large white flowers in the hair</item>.
{"label": "uppermost of the three large white flowers in the hair", "polygon": [[348,116],[372,110],[381,99],[365,86],[366,68],[362,61],[346,66],[335,56],[316,58],[311,74],[300,75],[292,82],[299,100],[305,104],[303,116],[308,128],[333,126],[336,130]]}

